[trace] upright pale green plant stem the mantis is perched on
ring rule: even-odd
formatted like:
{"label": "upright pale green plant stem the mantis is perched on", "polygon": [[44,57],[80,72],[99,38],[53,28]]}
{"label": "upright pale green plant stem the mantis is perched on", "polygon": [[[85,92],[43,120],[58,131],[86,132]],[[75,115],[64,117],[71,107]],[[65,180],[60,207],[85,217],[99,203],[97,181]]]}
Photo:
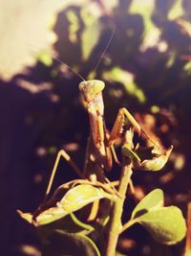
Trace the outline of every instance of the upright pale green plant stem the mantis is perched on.
{"label": "upright pale green plant stem the mantis is perched on", "polygon": [[121,216],[123,212],[123,204],[126,196],[126,191],[130,177],[132,175],[132,163],[128,160],[125,162],[122,167],[122,173],[120,176],[118,193],[120,198],[117,198],[117,201],[114,202],[111,219],[108,226],[107,241],[104,251],[104,256],[115,256],[117,249],[117,240],[121,230]]}

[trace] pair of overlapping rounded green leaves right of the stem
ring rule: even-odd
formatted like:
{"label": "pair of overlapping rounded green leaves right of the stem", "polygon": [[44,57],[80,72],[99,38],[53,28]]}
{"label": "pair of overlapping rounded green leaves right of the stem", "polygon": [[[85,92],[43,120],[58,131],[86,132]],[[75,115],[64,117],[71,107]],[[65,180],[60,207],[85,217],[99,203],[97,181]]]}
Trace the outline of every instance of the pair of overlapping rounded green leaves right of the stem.
{"label": "pair of overlapping rounded green leaves right of the stem", "polygon": [[138,203],[129,223],[140,223],[161,244],[177,244],[185,236],[185,221],[178,207],[162,207],[163,201],[162,190],[155,189]]}

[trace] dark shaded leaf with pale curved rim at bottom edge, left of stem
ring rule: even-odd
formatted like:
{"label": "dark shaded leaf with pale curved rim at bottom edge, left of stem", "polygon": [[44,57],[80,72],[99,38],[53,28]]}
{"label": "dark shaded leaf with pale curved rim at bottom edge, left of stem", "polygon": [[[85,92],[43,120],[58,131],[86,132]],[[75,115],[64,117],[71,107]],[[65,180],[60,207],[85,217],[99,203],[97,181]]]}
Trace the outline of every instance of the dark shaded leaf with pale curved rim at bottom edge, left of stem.
{"label": "dark shaded leaf with pale curved rim at bottom edge, left of stem", "polygon": [[100,256],[96,244],[88,237],[56,230],[48,238],[42,256]]}

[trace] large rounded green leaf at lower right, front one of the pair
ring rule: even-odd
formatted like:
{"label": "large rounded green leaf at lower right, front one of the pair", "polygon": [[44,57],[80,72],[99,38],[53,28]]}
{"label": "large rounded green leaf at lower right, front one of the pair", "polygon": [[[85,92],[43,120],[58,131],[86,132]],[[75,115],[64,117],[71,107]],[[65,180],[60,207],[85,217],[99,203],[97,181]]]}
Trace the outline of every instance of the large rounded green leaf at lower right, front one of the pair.
{"label": "large rounded green leaf at lower right, front one of the pair", "polygon": [[162,207],[138,217],[138,222],[161,244],[177,244],[185,236],[186,225],[176,206]]}

